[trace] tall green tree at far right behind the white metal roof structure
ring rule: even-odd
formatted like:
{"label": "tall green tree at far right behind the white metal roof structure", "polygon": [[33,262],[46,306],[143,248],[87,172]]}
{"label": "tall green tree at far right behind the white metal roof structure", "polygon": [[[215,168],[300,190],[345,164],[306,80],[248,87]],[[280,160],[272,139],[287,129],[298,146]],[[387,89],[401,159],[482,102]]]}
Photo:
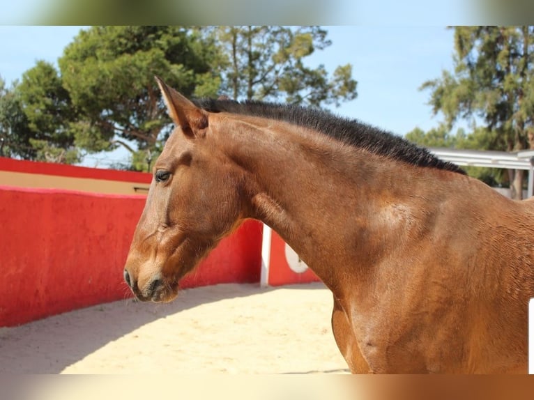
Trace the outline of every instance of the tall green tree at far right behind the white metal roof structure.
{"label": "tall green tree at far right behind the white metal roof structure", "polygon": [[[434,114],[448,127],[459,118],[480,118],[487,148],[534,149],[534,28],[455,28],[455,71],[425,82]],[[523,171],[509,171],[512,197],[521,199]]]}

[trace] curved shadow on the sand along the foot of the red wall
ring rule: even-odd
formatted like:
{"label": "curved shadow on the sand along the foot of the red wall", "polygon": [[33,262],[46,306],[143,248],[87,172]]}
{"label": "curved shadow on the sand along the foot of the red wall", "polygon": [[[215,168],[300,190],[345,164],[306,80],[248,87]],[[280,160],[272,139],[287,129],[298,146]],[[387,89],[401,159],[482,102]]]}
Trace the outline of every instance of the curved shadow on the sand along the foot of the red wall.
{"label": "curved shadow on the sand along the foot of the red wall", "polygon": [[[322,284],[283,286],[323,289]],[[236,290],[236,289],[239,290]],[[110,341],[142,325],[208,302],[277,290],[259,284],[221,284],[186,289],[167,304],[120,300],[70,311],[13,328],[0,328],[0,373],[59,374]]]}

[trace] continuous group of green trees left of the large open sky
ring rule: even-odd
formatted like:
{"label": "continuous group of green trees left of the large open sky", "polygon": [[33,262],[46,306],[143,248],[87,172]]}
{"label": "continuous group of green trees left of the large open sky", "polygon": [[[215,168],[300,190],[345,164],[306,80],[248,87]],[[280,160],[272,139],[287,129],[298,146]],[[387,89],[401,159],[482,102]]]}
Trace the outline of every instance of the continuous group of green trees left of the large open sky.
{"label": "continuous group of green trees left of the large open sky", "polygon": [[329,76],[306,57],[330,45],[319,26],[93,26],[20,84],[0,81],[3,153],[77,162],[123,146],[149,171],[171,132],[154,75],[191,97],[340,105],[356,98],[349,64]]}

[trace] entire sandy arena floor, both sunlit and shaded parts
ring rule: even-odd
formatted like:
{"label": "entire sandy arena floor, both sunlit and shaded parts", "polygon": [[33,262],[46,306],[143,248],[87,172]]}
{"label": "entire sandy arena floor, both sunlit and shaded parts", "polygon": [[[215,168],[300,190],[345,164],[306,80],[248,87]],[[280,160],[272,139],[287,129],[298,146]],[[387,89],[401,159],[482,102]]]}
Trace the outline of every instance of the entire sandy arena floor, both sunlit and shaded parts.
{"label": "entire sandy arena floor, both sunlit and shaded parts", "polygon": [[222,284],[0,328],[0,373],[348,373],[323,284]]}

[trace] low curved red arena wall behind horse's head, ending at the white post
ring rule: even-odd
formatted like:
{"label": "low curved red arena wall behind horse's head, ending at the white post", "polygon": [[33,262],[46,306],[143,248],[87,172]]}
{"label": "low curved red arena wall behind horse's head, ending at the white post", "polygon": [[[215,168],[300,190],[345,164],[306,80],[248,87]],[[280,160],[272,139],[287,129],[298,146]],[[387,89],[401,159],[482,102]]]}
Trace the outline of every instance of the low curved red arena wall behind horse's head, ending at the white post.
{"label": "low curved red arena wall behind horse's head, ending at the white post", "polygon": [[[130,297],[123,266],[144,196],[0,186],[0,326]],[[261,225],[246,222],[183,287],[258,282]]]}

